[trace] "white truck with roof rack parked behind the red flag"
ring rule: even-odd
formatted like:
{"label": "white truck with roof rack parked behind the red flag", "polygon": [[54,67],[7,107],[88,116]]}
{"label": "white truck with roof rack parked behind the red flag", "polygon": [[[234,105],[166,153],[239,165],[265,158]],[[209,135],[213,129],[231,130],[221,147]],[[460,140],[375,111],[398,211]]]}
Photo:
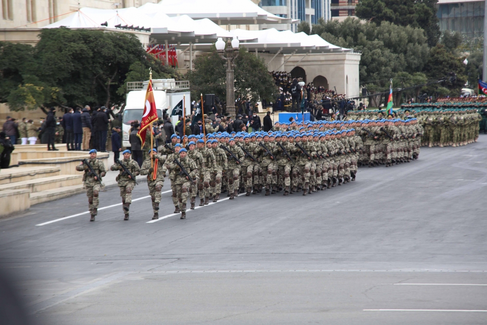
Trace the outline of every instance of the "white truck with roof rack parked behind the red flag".
{"label": "white truck with roof rack parked behind the red flag", "polygon": [[[130,123],[134,120],[142,119],[146,98],[147,85],[149,80],[143,82],[127,82],[127,99],[122,117],[122,145],[130,147],[129,132]],[[191,114],[191,98],[189,93],[189,81],[175,81],[174,79],[152,79],[152,89],[154,91],[155,107],[157,116],[163,117],[163,110],[168,109],[167,114],[180,100],[185,97],[186,115]],[[175,126],[178,116],[172,116],[172,125]]]}

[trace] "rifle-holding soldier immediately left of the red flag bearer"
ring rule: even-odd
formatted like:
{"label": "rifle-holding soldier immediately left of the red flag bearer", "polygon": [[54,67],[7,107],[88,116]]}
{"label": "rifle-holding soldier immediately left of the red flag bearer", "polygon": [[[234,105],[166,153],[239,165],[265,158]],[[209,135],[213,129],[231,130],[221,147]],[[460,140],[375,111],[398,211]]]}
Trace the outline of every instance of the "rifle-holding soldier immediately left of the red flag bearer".
{"label": "rifle-holding soldier immediately left of the red flag bearer", "polygon": [[[125,150],[123,152],[123,160],[120,162],[135,177],[139,174],[140,168],[137,162],[130,158],[130,155],[130,150]],[[120,172],[116,177],[116,181],[118,182],[120,196],[122,197],[122,207],[125,213],[124,220],[129,220],[129,207],[132,203],[132,190],[135,187],[135,179],[132,179],[131,176],[128,175],[118,163],[113,164],[112,167],[110,167],[110,170]]]}

